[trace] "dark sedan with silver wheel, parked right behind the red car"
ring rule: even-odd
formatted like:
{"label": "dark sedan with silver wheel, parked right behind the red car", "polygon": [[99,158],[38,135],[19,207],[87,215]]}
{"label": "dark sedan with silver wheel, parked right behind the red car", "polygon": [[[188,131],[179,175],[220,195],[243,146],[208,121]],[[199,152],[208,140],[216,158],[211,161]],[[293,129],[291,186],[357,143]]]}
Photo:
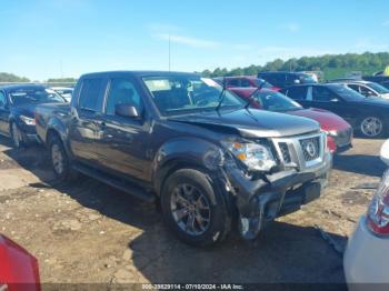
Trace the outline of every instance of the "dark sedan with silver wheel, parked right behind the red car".
{"label": "dark sedan with silver wheel, parked right behind the red car", "polygon": [[340,83],[292,86],[282,93],[305,108],[321,108],[349,122],[365,138],[381,138],[389,131],[389,101],[366,98]]}

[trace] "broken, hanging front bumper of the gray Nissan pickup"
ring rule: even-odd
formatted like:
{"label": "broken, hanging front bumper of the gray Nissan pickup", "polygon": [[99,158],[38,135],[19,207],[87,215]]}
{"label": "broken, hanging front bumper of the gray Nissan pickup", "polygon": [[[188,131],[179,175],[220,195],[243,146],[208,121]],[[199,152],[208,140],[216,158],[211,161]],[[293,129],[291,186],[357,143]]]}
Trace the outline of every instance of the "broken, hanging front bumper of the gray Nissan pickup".
{"label": "broken, hanging front bumper of the gray Nissan pickup", "polygon": [[237,198],[242,237],[256,238],[267,222],[319,198],[331,165],[332,155],[327,152],[323,162],[313,169],[302,172],[291,169],[259,180],[250,180],[236,167],[227,169],[230,188]]}

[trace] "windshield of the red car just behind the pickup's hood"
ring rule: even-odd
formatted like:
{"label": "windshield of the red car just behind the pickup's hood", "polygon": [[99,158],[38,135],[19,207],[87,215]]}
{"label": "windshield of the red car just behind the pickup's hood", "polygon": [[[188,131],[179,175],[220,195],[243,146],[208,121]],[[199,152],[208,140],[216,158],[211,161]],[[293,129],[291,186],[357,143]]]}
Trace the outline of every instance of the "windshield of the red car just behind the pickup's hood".
{"label": "windshield of the red car just behind the pickup's hood", "polygon": [[253,98],[265,110],[281,112],[302,109],[299,103],[279,92],[263,90],[256,93]]}

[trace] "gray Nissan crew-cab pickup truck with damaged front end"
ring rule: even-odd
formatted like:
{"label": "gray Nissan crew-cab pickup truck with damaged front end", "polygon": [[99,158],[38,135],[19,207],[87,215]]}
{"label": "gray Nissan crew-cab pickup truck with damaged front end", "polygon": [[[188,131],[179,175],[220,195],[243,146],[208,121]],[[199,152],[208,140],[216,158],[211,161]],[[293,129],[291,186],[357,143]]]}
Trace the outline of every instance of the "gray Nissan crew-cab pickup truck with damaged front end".
{"label": "gray Nissan crew-cab pickup truck with damaged front end", "polygon": [[84,74],[70,106],[42,104],[37,132],[58,179],[81,172],[161,205],[184,242],[253,239],[319,198],[331,154],[317,122],[249,109],[193,73]]}

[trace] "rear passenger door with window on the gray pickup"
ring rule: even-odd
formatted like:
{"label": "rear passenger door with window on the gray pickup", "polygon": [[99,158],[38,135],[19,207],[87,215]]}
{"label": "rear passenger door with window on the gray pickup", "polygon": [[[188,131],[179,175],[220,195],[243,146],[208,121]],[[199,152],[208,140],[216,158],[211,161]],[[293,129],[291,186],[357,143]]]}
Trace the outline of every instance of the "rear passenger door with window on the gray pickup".
{"label": "rear passenger door with window on the gray pickup", "polygon": [[96,165],[98,154],[98,126],[101,123],[102,100],[107,79],[86,78],[81,81],[78,100],[73,101],[69,126],[70,148],[82,162]]}

